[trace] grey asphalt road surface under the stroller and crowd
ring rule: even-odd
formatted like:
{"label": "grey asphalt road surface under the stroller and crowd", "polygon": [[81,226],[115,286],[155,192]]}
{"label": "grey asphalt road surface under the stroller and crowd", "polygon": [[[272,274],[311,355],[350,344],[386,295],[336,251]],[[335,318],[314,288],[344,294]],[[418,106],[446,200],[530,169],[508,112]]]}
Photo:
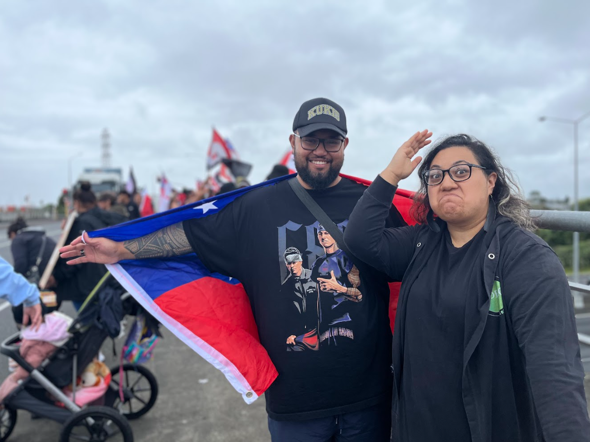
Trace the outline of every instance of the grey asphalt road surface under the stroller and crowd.
{"label": "grey asphalt road surface under the stroller and crowd", "polygon": [[[31,222],[42,225],[57,240],[60,223]],[[11,261],[10,245],[0,223],[0,256]],[[12,261],[11,261],[12,262]],[[587,299],[590,304],[590,298]],[[14,321],[7,305],[0,302],[0,339],[15,332]],[[70,303],[62,310],[75,315]],[[590,335],[590,313],[576,315],[578,332]],[[197,442],[197,441],[270,441],[264,397],[246,405],[240,395],[217,369],[196,355],[172,333],[163,330],[164,339],[158,344],[152,361],[146,366],[159,383],[159,396],[153,409],[136,421],[130,421],[136,441]],[[117,341],[120,349],[122,342]],[[582,361],[590,374],[590,346],[581,344]],[[117,365],[112,356],[112,344],[103,346],[107,365]],[[8,360],[0,356],[0,379],[8,375]],[[586,376],[586,396],[590,393],[590,376]],[[53,421],[31,420],[28,412],[20,411],[17,427],[9,438],[12,442],[46,442],[58,440],[60,425]]]}

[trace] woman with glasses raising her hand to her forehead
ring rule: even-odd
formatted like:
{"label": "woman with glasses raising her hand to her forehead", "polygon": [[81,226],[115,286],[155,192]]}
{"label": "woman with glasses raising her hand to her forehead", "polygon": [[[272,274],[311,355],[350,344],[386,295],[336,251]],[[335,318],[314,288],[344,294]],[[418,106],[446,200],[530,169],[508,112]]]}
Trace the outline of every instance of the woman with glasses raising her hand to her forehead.
{"label": "woman with glasses raising her hand to her forehead", "polygon": [[419,224],[385,228],[431,135],[399,148],[345,231],[356,256],[402,281],[392,440],[590,440],[568,280],[496,155],[468,135],[443,139],[418,169]]}

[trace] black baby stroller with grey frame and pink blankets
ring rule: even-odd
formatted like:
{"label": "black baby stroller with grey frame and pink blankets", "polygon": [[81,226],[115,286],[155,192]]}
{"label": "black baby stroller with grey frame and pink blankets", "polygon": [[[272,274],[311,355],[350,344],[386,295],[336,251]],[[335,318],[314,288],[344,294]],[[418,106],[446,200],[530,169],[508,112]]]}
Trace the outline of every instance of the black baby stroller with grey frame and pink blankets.
{"label": "black baby stroller with grey frame and pink blankets", "polygon": [[[158,382],[144,366],[121,364],[114,367],[109,388],[102,398],[84,407],[74,402],[77,376],[93,361],[106,338],[119,335],[114,327],[115,320],[118,323],[126,313],[137,309],[135,300],[118,284],[106,283],[109,276],[107,273],[84,302],[68,329],[71,338],[38,368],[33,368],[20,355],[19,333],[2,342],[0,352],[14,359],[30,375],[2,402],[0,442],[7,440],[14,430],[17,410],[27,410],[62,423],[61,442],[133,441],[127,419],[148,412],[158,397]],[[62,391],[68,385],[72,385],[74,400]]]}

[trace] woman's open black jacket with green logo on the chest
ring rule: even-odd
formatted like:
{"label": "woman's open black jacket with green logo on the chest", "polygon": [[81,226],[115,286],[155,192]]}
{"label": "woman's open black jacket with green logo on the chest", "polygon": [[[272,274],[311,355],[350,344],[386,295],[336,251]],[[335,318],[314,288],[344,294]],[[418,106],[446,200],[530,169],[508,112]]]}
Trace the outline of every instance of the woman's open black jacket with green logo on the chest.
{"label": "woman's open black jacket with green logo on the chest", "polygon": [[[356,256],[394,279],[403,276],[393,340],[394,441],[400,440],[408,292],[443,237],[443,229],[435,232],[428,225],[384,229],[395,189],[378,176],[345,231]],[[495,211],[484,229],[481,260],[474,267],[480,283],[457,287],[466,293],[463,404],[471,440],[588,441],[584,368],[559,259],[543,240]]]}

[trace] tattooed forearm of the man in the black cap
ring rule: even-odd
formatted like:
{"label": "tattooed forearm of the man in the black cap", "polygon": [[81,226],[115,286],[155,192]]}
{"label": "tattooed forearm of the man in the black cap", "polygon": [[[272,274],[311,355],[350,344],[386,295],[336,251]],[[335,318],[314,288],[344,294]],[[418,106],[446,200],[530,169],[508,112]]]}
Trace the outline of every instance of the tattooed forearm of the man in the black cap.
{"label": "tattooed forearm of the man in the black cap", "polygon": [[168,258],[192,252],[182,222],[134,240],[124,241],[123,247],[133,253],[136,259]]}

